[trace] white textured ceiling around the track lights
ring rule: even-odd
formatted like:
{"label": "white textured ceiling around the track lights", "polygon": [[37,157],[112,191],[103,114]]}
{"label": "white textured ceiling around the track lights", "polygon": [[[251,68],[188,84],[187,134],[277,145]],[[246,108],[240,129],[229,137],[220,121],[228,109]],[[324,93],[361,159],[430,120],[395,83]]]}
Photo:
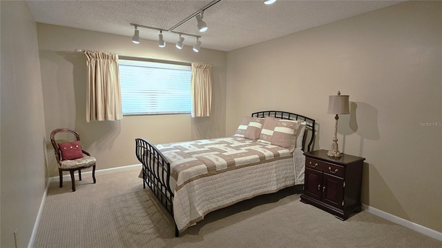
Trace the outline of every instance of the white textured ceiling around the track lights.
{"label": "white textured ceiling around the track lights", "polygon": [[[204,11],[209,30],[199,32],[195,18],[175,32],[200,35],[202,48],[230,51],[287,34],[392,6],[402,1],[263,1],[222,0]],[[130,23],[169,30],[211,1],[26,1],[39,23],[133,36]],[[159,32],[139,28],[141,39],[157,40]],[[178,34],[164,32],[167,43]],[[195,38],[184,37],[184,45]],[[169,44],[170,45],[170,44]]]}

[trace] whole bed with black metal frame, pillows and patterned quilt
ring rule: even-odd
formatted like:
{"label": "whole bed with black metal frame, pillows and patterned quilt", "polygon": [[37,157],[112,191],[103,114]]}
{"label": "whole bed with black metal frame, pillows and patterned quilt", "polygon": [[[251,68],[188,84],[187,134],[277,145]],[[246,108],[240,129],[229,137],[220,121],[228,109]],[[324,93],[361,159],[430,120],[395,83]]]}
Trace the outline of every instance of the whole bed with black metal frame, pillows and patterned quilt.
{"label": "whole bed with black metal frame, pillows and patterned quilt", "polygon": [[[211,211],[304,183],[315,120],[282,111],[244,116],[233,136],[153,145],[135,139],[146,185],[175,220],[175,236]],[[258,178],[258,179],[257,179]]]}

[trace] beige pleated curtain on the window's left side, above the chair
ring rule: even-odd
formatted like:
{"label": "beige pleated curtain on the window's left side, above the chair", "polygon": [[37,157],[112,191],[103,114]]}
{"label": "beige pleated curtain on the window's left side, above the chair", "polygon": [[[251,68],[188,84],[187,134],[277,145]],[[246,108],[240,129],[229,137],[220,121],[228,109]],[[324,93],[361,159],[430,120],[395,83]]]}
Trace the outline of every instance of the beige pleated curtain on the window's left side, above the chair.
{"label": "beige pleated curtain on the window's left side, above the chair", "polygon": [[86,122],[121,120],[118,55],[99,51],[86,51],[84,54],[88,65]]}

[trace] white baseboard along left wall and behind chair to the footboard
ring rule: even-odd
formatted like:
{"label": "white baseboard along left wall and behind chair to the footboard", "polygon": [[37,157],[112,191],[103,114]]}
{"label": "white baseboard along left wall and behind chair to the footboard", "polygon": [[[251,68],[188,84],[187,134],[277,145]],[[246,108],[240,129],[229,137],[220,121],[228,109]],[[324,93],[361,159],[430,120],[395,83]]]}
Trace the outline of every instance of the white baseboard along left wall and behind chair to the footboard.
{"label": "white baseboard along left wall and behind chair to the footboard", "polygon": [[[124,170],[127,170],[127,169],[133,169],[133,168],[137,168],[137,167],[140,167],[140,169],[142,169],[142,165],[141,164],[126,165],[126,166],[109,168],[109,169],[97,169],[95,171],[95,175],[97,176],[97,175],[104,175],[104,174],[109,174],[109,173],[113,173],[113,172],[121,172],[121,171],[124,171]],[[82,175],[84,175],[84,174],[92,174],[92,171],[89,170],[89,171],[86,171],[86,172],[81,172],[81,174]],[[75,174],[75,176],[77,176],[77,175],[78,175],[78,173]],[[63,175],[63,180],[70,180],[70,174]],[[28,243],[28,248],[34,247],[35,235],[37,235],[37,229],[39,227],[41,213],[43,212],[44,203],[46,202],[46,196],[48,195],[49,185],[52,182],[58,182],[58,181],[59,181],[59,177],[58,176],[54,176],[54,177],[48,178],[48,183],[46,183],[46,189],[45,189],[45,192],[43,194],[43,199],[41,199],[39,213],[37,214],[37,218],[35,219],[34,228],[32,229],[32,234],[30,236],[30,240],[29,240],[29,243]]]}

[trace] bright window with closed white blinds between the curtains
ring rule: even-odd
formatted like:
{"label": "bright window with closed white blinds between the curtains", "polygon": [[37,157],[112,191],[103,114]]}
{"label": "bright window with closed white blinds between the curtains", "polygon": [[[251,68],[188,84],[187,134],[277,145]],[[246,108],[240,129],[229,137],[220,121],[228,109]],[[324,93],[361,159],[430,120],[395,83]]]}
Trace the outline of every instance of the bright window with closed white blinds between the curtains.
{"label": "bright window with closed white blinds between the curtains", "polygon": [[191,66],[119,59],[124,115],[191,112]]}

